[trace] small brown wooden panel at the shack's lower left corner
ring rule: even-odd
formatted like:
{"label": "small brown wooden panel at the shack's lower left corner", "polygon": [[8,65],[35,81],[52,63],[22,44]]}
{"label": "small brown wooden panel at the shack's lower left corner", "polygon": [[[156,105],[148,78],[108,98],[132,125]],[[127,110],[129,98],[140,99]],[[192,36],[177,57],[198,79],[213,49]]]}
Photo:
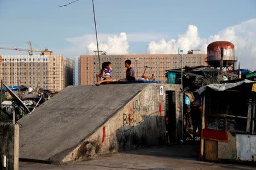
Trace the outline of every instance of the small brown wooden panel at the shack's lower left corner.
{"label": "small brown wooden panel at the shack's lower left corner", "polygon": [[218,160],[218,141],[205,140],[205,159]]}

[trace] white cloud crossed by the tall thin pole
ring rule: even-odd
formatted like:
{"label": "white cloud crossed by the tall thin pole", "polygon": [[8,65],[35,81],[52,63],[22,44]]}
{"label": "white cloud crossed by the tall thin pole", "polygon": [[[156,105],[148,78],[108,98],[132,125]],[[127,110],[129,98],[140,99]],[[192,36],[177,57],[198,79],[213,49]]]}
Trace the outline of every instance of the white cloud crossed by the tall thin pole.
{"label": "white cloud crossed by the tall thin pole", "polygon": [[[108,54],[128,54],[128,42],[148,42],[164,37],[155,33],[100,33],[98,34],[99,50],[105,50]],[[71,42],[71,46],[64,49],[65,54],[79,56],[81,54],[93,54],[97,50],[95,34],[86,34],[79,37],[65,39]],[[62,51],[63,53],[63,51]]]}

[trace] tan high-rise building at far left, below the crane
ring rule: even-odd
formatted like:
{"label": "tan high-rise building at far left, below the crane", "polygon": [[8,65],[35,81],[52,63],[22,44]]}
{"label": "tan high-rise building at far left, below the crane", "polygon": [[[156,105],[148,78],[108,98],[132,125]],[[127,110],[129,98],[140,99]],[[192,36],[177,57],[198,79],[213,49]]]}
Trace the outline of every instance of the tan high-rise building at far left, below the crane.
{"label": "tan high-rise building at far left, below the crane", "polygon": [[61,55],[0,56],[0,62],[0,78],[7,86],[60,91],[74,84],[74,62]]}

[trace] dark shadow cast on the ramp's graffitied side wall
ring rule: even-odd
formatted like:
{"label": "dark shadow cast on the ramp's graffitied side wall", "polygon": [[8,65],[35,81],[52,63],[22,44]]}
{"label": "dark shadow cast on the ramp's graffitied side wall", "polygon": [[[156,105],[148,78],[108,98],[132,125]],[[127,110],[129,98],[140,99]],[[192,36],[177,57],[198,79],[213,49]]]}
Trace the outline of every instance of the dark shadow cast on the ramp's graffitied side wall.
{"label": "dark shadow cast on the ramp's graffitied side wall", "polygon": [[[142,121],[137,122],[123,114],[123,126],[116,131],[116,137],[118,151],[163,145],[166,141],[165,119],[163,116],[142,116]],[[114,148],[117,147],[110,145],[109,151]]]}

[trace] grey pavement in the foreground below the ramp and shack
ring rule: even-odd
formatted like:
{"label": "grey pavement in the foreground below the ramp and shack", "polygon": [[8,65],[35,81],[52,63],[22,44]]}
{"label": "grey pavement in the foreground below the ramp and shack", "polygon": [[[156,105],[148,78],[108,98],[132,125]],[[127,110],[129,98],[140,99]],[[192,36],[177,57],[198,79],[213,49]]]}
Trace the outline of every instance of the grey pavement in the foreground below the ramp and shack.
{"label": "grey pavement in the foreground below the ramp and shack", "polygon": [[165,145],[102,155],[84,162],[43,164],[19,162],[20,170],[27,169],[256,169],[242,164],[223,164],[197,161],[199,145]]}

